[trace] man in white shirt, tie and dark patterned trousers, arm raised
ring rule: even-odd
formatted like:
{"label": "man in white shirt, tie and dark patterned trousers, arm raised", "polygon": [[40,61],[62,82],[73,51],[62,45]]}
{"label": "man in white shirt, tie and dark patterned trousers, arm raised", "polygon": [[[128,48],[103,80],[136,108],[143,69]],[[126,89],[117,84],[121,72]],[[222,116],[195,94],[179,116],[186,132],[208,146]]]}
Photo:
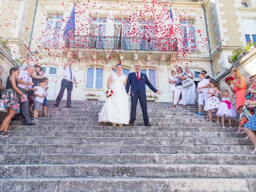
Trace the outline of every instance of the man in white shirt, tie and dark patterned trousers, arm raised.
{"label": "man in white shirt, tie and dark patterned trousers, arm raised", "polygon": [[[63,79],[61,81],[60,92],[55,100],[54,107],[58,107],[60,101],[62,100],[65,89],[67,89],[67,104],[66,107],[71,107],[71,92],[73,90],[73,81],[76,85],[76,72],[71,68],[74,59],[69,59],[68,62],[64,65],[63,70]],[[77,85],[76,85],[77,87]]]}

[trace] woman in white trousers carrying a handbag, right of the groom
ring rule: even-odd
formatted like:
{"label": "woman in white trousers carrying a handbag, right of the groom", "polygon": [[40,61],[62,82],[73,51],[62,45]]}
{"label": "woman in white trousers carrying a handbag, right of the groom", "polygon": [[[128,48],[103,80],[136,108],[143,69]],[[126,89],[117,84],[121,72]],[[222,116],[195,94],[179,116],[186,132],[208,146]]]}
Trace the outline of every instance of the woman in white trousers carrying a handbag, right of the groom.
{"label": "woman in white trousers carrying a handbag, right of the groom", "polygon": [[186,107],[186,101],[187,101],[187,93],[188,93],[188,87],[183,88],[182,81],[186,80],[188,78],[187,74],[183,72],[181,67],[176,68],[177,75],[174,77],[174,80],[171,81],[172,84],[175,84],[174,89],[174,102],[172,108],[176,108],[178,98],[180,97],[180,93],[182,94],[183,99],[183,108],[187,109]]}

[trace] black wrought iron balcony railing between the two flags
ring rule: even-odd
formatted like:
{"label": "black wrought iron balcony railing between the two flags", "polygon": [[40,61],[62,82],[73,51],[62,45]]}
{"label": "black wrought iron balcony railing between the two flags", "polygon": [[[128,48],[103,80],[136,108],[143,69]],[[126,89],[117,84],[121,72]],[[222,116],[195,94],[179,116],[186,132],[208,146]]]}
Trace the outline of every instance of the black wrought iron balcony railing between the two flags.
{"label": "black wrought iron balcony railing between the two flags", "polygon": [[112,50],[177,51],[177,41],[172,38],[139,38],[75,35],[66,40],[66,47]]}

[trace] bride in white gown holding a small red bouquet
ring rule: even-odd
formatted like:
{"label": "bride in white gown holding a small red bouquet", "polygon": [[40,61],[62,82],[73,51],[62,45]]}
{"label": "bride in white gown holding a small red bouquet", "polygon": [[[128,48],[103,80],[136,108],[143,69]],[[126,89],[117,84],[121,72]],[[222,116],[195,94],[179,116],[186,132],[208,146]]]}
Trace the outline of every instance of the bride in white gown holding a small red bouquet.
{"label": "bride in white gown holding a small red bouquet", "polygon": [[127,77],[122,74],[122,69],[122,64],[117,64],[116,73],[113,72],[108,78],[107,87],[113,95],[104,103],[98,122],[110,122],[113,126],[129,124],[131,106],[125,90]]}

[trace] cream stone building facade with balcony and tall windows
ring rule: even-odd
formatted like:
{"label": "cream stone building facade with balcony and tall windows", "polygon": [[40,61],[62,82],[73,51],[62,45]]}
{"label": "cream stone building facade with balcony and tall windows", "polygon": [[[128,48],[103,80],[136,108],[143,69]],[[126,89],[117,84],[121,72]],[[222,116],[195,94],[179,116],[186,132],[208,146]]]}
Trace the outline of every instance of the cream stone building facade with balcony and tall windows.
{"label": "cream stone building facade with balcony and tall windows", "polygon": [[[4,14],[10,10],[3,2],[0,22],[8,26],[1,38],[9,38],[14,59],[24,59],[28,50],[38,52],[32,64],[40,64],[49,77],[50,99],[58,94],[63,64],[75,57],[78,88],[73,100],[84,100],[89,92],[105,100],[106,82],[116,64],[121,62],[128,74],[140,62],[142,72],[163,91],[157,101],[172,102],[168,78],[176,66],[189,66],[198,82],[201,70],[214,76],[230,67],[228,58],[236,48],[248,38],[256,41],[254,0],[76,0],[75,40],[67,43],[62,34],[73,8],[69,0],[13,1],[8,5],[12,14]],[[175,34],[169,38],[170,5]]]}

